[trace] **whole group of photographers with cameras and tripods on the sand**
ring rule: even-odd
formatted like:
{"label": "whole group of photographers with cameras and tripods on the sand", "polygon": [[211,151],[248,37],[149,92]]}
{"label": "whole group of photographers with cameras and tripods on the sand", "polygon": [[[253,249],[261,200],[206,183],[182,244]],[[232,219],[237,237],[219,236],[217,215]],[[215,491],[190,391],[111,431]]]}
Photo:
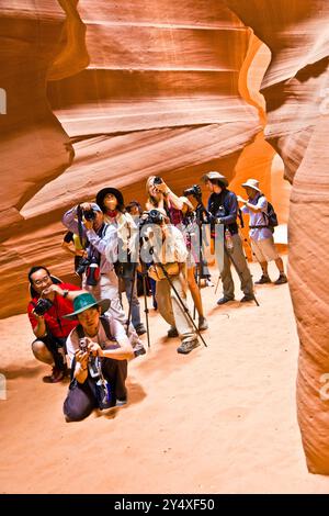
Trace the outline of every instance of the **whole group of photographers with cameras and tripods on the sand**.
{"label": "whole group of photographers with cameras and tripods on the sand", "polygon": [[[178,352],[189,354],[200,345],[200,332],[208,327],[200,282],[195,281],[196,267],[201,277],[205,265],[202,254],[205,224],[211,225],[223,283],[223,296],[217,304],[235,298],[231,263],[243,292],[240,301],[254,300],[237,223],[239,202],[253,222],[251,245],[263,272],[258,283],[271,281],[268,274],[271,260],[280,271],[275,283],[286,282],[266,217],[266,200],[258,181],[243,183],[248,200],[228,190],[227,179],[217,171],[203,176],[203,181],[211,191],[207,207],[202,203],[200,187],[178,197],[161,178],[152,176],[146,186],[146,212],[140,213],[134,205],[129,210],[134,212],[136,207],[132,216],[115,188],[98,192],[95,203],[83,202],[67,211],[63,223],[70,236],[64,247],[69,247],[70,242],[75,244],[71,253],[79,256],[76,272],[81,278],[81,289],[63,283],[44,266],[30,270],[32,300],[27,311],[36,337],[32,348],[38,360],[53,366],[52,374],[44,381],[61,381],[67,373],[66,354],[70,360],[71,382],[64,405],[67,420],[80,420],[94,407],[126,403],[127,360],[146,352],[139,338],[146,328],[140,321],[137,270],[144,278],[148,273],[155,280],[158,311],[170,325],[168,337],[181,340]],[[197,202],[195,210],[190,195]],[[120,282],[129,303],[128,317],[121,302]],[[188,289],[198,314],[197,325],[186,304]]]}

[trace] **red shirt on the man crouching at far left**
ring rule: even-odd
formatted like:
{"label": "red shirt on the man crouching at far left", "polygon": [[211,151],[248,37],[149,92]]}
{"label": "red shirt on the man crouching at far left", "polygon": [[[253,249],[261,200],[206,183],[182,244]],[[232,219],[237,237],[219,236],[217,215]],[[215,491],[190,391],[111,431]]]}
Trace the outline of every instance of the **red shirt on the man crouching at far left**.
{"label": "red shirt on the man crouching at far left", "polygon": [[[59,283],[58,287],[60,287],[63,290],[81,290],[79,287],[70,283]],[[37,325],[37,319],[32,313],[35,307],[33,303],[36,304],[37,300],[38,298],[33,298],[33,300],[30,301],[27,305],[27,314],[32,328]],[[45,313],[45,323],[49,333],[52,333],[55,337],[65,338],[78,324],[78,319],[69,321],[67,318],[63,318],[64,315],[75,312],[73,303],[67,298],[63,298],[56,293],[53,303],[53,306],[50,306],[50,309]]]}

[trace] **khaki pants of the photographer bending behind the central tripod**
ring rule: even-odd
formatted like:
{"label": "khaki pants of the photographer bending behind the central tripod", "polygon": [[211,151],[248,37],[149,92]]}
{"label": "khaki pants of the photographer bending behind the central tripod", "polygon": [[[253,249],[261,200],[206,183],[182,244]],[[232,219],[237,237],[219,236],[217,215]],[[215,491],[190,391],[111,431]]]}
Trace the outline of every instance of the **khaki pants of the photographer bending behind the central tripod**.
{"label": "khaki pants of the photographer bending behind the central tripod", "polygon": [[[183,273],[171,276],[170,280],[186,306],[186,289],[185,285],[183,287],[185,283]],[[177,299],[167,279],[157,281],[156,300],[160,314],[170,326],[177,327],[181,338],[194,337],[195,332],[192,323],[184,313],[180,301]]]}

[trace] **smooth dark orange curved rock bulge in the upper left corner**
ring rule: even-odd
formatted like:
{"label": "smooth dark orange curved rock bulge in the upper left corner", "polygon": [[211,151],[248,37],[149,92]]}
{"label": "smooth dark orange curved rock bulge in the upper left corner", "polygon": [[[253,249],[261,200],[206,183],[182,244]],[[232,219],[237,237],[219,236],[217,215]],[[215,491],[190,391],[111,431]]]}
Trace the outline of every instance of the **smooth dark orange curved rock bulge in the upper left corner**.
{"label": "smooth dark orange curved rock bulge in the upper left corner", "polygon": [[0,86],[7,92],[7,114],[0,116],[2,240],[13,223],[23,222],[20,210],[25,202],[72,158],[45,90],[64,21],[53,1],[19,0],[0,8]]}

